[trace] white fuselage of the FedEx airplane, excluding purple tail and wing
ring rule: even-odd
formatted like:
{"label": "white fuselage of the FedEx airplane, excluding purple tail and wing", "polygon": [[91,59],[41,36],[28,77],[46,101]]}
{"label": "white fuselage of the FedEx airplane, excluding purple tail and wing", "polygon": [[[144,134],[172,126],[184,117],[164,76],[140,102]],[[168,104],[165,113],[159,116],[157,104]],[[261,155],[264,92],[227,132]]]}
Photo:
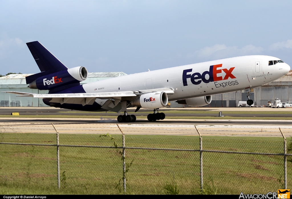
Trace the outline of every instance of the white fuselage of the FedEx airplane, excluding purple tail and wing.
{"label": "white fuselage of the FedEx airplane, excluding purple tail and wing", "polygon": [[83,88],[86,93],[172,88],[174,94],[168,95],[168,101],[182,100],[270,83],[290,70],[283,62],[269,65],[274,60],[280,59],[264,55],[233,57],[109,78],[84,84]]}

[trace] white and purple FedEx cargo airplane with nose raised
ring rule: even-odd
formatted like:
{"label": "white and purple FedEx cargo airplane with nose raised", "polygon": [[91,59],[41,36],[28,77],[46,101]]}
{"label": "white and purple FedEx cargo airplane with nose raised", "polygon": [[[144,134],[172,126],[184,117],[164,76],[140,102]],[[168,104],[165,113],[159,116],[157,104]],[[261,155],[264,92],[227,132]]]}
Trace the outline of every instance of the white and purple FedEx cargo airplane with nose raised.
{"label": "white and purple FedEx cargo airplane with nose raised", "polygon": [[127,108],[153,109],[149,121],[163,120],[158,112],[168,102],[200,107],[211,103],[212,95],[241,91],[247,93],[247,104],[253,88],[270,83],[290,70],[277,57],[249,55],[189,64],[109,78],[80,85],[87,78],[85,67],[68,69],[41,43],[27,43],[40,73],[26,77],[31,89],[48,90],[48,94],[4,91],[19,97],[43,98],[51,107],[81,111],[124,112],[118,122],[135,122]]}

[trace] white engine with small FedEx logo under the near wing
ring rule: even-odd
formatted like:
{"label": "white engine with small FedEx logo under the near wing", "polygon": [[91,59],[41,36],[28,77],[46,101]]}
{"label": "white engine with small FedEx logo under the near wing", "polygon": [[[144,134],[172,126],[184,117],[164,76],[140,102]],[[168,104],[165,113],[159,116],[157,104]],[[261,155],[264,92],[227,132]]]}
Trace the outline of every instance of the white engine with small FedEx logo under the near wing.
{"label": "white engine with small FedEx logo under the near wing", "polygon": [[165,107],[167,103],[168,97],[166,92],[150,92],[133,100],[131,105],[134,107],[142,107],[143,109],[159,109]]}

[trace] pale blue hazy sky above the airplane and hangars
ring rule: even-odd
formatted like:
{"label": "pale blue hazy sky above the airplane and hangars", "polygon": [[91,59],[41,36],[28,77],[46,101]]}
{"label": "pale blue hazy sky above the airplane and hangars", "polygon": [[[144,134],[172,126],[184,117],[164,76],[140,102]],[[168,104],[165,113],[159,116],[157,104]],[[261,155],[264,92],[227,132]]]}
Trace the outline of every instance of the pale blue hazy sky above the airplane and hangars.
{"label": "pale blue hazy sky above the airplane and hangars", "polygon": [[0,74],[38,73],[27,42],[68,68],[126,74],[243,55],[292,66],[292,1],[0,1]]}

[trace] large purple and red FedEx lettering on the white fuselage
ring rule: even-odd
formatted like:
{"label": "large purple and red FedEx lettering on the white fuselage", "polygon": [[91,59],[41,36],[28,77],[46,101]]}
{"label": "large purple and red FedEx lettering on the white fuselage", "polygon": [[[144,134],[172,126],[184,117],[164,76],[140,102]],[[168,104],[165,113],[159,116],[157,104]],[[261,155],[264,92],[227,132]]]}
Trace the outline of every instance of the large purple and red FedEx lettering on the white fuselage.
{"label": "large purple and red FedEx lettering on the white fuselage", "polygon": [[[192,84],[198,85],[200,84],[202,81],[204,83],[209,83],[209,82],[213,82],[213,81],[221,81],[221,80],[227,80],[228,78],[234,79],[236,78],[234,75],[232,75],[232,71],[235,67],[231,67],[230,69],[227,68],[223,68],[220,69],[222,67],[222,64],[217,64],[217,65],[213,65],[210,66],[209,71],[204,71],[202,74],[200,73],[193,73],[193,74],[188,74],[190,72],[192,72],[192,69],[185,69],[183,70],[183,85],[187,86],[187,79],[190,78]],[[218,74],[225,72],[225,76],[223,78],[223,76],[218,76]],[[206,78],[206,75],[207,78]]]}

